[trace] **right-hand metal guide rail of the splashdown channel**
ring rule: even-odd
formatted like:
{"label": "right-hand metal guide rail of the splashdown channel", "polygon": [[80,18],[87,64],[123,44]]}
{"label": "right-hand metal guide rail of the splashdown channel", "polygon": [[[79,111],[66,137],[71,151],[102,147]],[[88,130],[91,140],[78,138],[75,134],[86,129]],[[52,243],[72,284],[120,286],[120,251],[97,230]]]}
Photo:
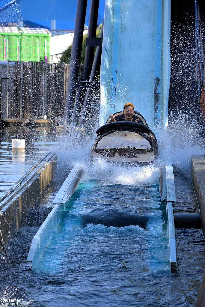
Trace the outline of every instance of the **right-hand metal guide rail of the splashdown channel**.
{"label": "right-hand metal guide rail of the splashdown channel", "polygon": [[174,214],[172,202],[176,201],[174,173],[172,164],[165,165],[160,169],[160,194],[161,201],[166,201],[167,208],[167,232],[169,239],[169,262],[171,272],[176,272],[176,240],[174,227]]}

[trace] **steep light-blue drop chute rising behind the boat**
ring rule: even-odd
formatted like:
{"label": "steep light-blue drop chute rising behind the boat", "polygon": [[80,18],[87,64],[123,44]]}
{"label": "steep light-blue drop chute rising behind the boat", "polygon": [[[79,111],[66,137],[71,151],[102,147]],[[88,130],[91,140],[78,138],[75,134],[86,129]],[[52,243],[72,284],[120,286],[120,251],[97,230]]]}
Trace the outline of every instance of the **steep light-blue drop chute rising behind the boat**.
{"label": "steep light-blue drop chute rising behind the boat", "polygon": [[131,102],[151,129],[167,127],[170,20],[170,0],[106,1],[100,126]]}

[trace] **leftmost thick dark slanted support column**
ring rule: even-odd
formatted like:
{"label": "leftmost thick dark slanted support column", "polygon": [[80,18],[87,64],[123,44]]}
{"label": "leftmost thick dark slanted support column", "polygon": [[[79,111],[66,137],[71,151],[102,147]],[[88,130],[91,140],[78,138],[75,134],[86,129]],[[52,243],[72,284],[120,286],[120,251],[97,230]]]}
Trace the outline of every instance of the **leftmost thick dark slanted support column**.
{"label": "leftmost thick dark slanted support column", "polygon": [[74,107],[74,101],[75,101],[74,83],[78,80],[86,7],[87,7],[87,0],[78,0],[76,17],[75,17],[74,37],[73,37],[73,44],[71,51],[70,70],[68,77],[68,88],[65,100],[64,119],[63,119],[64,124],[68,124],[70,122]]}

